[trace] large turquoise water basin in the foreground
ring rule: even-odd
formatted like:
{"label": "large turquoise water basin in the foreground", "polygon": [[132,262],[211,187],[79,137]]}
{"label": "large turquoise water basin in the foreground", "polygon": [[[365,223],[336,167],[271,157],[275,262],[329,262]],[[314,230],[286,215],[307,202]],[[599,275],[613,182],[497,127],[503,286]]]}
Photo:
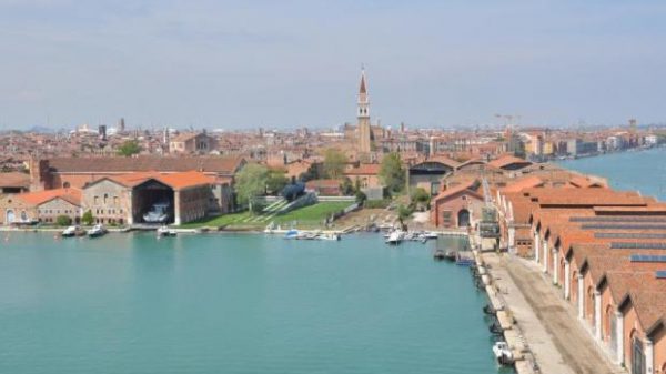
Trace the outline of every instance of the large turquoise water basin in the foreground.
{"label": "large turquoise water basin in the foreground", "polygon": [[0,373],[496,373],[485,295],[434,244],[12,233]]}

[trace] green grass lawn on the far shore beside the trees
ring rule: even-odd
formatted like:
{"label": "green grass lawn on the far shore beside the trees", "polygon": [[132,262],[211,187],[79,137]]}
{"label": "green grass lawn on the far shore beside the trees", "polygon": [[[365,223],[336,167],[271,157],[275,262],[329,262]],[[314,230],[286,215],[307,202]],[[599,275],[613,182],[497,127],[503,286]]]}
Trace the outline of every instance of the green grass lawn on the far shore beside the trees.
{"label": "green grass lawn on the far shore beside the trees", "polygon": [[181,228],[198,229],[203,226],[225,226],[228,229],[263,229],[270,222],[275,222],[275,224],[282,226],[295,223],[299,228],[317,228],[321,226],[322,222],[332,213],[339,212],[351,204],[352,202],[341,201],[321,202],[272,218],[260,218],[259,214],[251,214],[250,212],[230,213],[212,219],[185,223],[181,225]]}

